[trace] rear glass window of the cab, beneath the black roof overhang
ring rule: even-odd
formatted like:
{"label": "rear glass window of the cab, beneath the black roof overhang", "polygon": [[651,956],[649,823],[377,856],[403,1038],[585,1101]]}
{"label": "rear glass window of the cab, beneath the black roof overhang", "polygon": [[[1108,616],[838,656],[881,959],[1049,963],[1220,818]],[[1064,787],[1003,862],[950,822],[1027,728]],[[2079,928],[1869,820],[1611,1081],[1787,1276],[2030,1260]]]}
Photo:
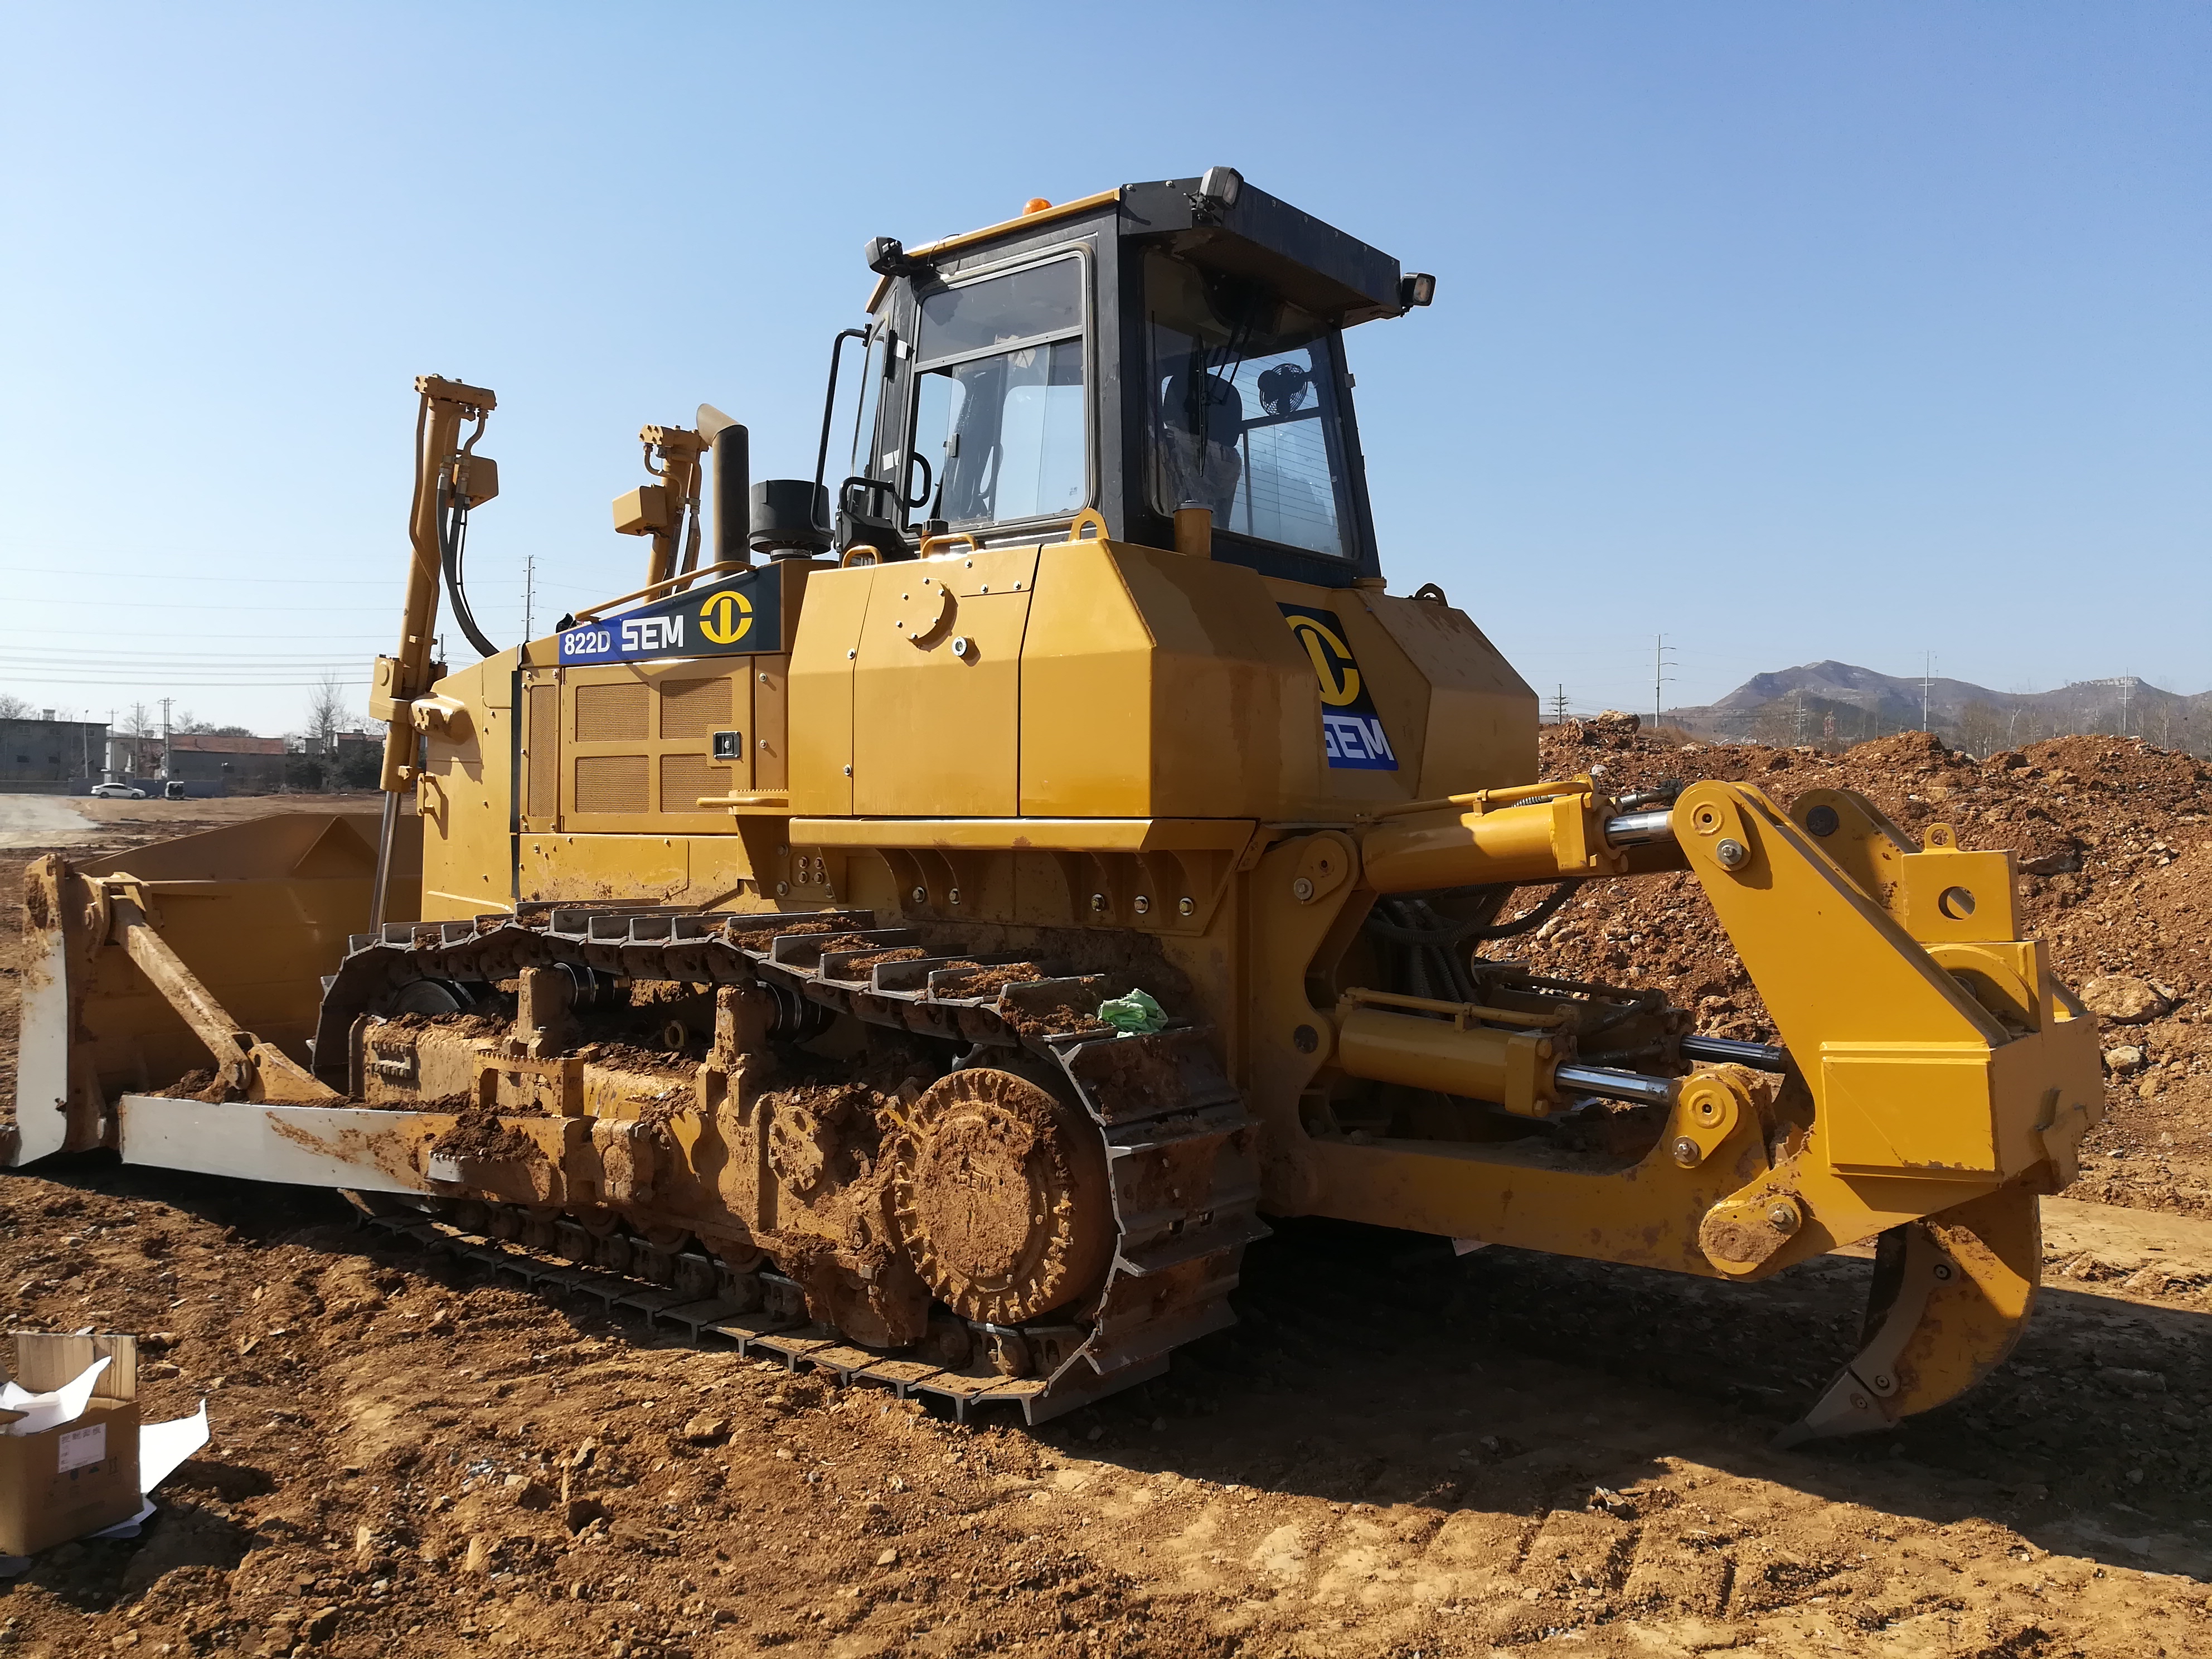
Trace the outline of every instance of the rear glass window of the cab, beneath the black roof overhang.
{"label": "rear glass window of the cab, beneath the black roof overhang", "polygon": [[1345,460],[1329,330],[1267,288],[1144,259],[1152,507],[1347,557]]}

